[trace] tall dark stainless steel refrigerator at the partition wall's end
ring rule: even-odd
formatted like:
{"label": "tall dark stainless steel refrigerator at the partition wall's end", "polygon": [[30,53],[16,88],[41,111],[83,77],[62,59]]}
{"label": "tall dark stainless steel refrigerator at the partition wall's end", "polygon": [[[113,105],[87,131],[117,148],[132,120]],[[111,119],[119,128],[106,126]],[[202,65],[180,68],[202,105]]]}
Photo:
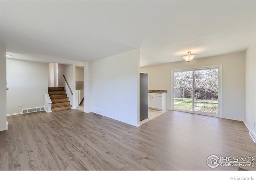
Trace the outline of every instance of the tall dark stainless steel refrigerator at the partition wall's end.
{"label": "tall dark stainless steel refrigerator at the partition wall's end", "polygon": [[140,121],[148,118],[148,74],[140,73]]}

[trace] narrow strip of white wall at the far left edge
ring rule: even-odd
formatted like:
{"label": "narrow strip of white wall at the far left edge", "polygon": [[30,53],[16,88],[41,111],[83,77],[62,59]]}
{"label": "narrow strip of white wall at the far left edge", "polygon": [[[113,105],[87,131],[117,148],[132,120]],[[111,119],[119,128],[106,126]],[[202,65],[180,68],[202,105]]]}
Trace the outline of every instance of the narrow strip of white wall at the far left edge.
{"label": "narrow strip of white wall at the far left edge", "polygon": [[7,130],[6,118],[6,47],[0,44],[0,131]]}

